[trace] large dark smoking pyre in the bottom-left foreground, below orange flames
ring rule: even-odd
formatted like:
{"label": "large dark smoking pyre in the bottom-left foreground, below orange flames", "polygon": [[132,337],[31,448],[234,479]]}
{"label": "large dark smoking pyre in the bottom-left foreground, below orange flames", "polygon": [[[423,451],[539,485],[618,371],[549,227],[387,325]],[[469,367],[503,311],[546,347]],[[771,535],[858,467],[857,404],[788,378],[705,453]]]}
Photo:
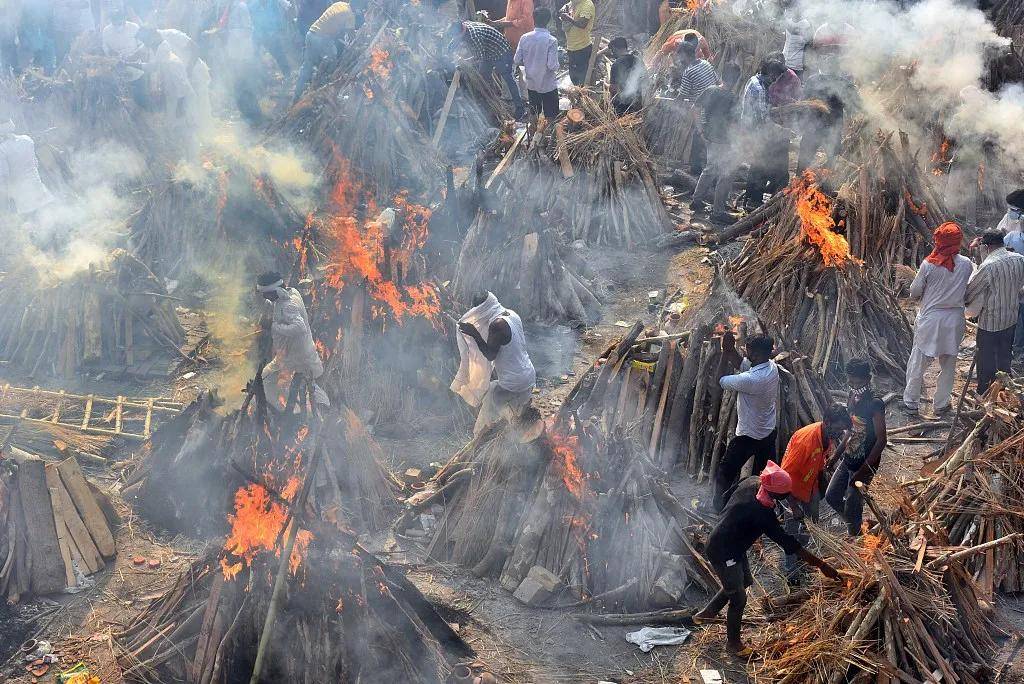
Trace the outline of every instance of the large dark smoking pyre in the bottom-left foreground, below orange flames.
{"label": "large dark smoking pyre in the bottom-left foreground, below orange flames", "polygon": [[[271,526],[269,542],[284,532],[283,522]],[[473,658],[419,590],[353,536],[308,516],[299,524],[307,546],[301,555],[293,552],[298,562],[285,576],[280,606],[271,607],[275,544],[231,579],[222,566],[232,557],[210,551],[115,636],[125,680],[248,679],[268,610],[275,619],[260,648],[261,682],[441,684],[456,665]]]}

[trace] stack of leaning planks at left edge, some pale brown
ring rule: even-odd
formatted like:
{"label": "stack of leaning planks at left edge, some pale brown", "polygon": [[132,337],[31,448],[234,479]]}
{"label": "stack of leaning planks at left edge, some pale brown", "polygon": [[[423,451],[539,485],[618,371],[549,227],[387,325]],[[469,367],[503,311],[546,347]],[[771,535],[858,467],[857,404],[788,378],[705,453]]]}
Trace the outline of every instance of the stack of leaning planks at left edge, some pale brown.
{"label": "stack of leaning planks at left edge, some pale brown", "polygon": [[16,447],[0,458],[0,596],[84,589],[114,557],[116,516],[75,459],[47,463]]}

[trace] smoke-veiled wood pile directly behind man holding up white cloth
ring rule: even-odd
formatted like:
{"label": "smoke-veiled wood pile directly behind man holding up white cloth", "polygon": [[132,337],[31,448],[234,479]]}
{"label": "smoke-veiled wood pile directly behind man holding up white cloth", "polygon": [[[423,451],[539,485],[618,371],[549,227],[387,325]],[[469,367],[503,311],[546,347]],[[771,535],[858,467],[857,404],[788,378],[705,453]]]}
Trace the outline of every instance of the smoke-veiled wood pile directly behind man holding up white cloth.
{"label": "smoke-veiled wood pile directly behind man holding up white cloth", "polygon": [[565,198],[551,191],[556,174],[537,151],[513,162],[463,240],[452,285],[458,301],[490,291],[531,320],[595,319],[597,286],[559,232]]}

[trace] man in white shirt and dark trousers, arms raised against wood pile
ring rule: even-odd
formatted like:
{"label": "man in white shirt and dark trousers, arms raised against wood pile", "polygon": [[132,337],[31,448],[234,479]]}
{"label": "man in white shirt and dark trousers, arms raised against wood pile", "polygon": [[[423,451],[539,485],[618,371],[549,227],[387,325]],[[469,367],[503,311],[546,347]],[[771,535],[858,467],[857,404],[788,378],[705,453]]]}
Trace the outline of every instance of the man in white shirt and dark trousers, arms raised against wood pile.
{"label": "man in white shirt and dark trousers, arms raised against wood pile", "polygon": [[778,367],[771,359],[774,341],[758,335],[746,340],[746,358],[740,373],[723,376],[722,389],[736,392],[736,436],[729,440],[715,475],[715,509],[722,510],[726,491],[739,480],[739,471],[753,457],[752,472],[775,460],[778,424]]}

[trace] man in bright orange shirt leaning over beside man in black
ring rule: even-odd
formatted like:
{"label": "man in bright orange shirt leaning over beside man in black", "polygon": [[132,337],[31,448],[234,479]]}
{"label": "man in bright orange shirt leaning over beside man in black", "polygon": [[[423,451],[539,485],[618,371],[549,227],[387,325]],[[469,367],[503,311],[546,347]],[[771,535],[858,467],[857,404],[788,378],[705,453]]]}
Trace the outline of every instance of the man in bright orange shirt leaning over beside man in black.
{"label": "man in bright orange shirt leaning over beside man in black", "polygon": [[[818,505],[825,489],[824,473],[828,465],[829,452],[840,453],[843,437],[853,426],[850,414],[841,405],[830,407],[822,421],[811,423],[793,433],[782,457],[782,470],[790,474],[793,489],[787,504],[793,515],[786,516],[785,531],[807,544],[807,528],[803,524],[805,516],[818,519]],[[796,555],[785,556],[786,579],[790,584],[799,582],[799,559]]]}

